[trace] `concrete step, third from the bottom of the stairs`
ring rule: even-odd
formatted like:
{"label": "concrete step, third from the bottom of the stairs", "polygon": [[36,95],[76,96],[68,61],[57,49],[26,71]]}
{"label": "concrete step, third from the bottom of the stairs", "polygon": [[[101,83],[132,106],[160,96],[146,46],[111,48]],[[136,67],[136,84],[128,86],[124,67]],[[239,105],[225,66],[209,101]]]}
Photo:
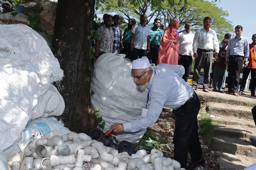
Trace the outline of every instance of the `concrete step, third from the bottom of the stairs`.
{"label": "concrete step, third from the bottom of the stairs", "polygon": [[213,125],[215,136],[226,136],[236,138],[256,137],[256,130],[248,126],[237,125]]}

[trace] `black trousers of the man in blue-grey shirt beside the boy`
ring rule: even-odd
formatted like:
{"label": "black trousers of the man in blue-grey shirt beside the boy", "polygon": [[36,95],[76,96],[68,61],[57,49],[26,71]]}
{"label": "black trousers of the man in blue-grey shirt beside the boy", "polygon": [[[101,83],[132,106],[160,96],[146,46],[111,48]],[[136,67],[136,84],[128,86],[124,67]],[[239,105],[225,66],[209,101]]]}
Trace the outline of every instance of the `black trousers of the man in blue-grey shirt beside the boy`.
{"label": "black trousers of the man in blue-grey shirt beside the boy", "polygon": [[229,57],[228,59],[228,91],[231,93],[238,91],[240,72],[243,57]]}

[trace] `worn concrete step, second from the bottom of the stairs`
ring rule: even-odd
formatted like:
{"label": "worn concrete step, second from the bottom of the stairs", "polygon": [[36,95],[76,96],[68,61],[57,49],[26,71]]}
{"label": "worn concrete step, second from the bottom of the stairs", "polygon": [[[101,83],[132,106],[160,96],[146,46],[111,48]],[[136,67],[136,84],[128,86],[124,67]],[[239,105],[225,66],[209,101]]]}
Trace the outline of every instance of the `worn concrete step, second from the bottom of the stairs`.
{"label": "worn concrete step, second from the bottom of the stairs", "polygon": [[213,137],[212,147],[217,151],[256,158],[256,147],[252,145],[249,139]]}

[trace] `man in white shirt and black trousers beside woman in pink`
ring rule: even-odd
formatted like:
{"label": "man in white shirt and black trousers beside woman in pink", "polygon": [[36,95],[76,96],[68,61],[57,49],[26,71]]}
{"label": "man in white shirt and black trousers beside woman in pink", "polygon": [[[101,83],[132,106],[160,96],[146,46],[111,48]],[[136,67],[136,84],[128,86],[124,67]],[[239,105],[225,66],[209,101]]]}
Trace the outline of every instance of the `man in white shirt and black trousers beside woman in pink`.
{"label": "man in white shirt and black trousers beside woman in pink", "polygon": [[192,25],[191,22],[186,22],[185,31],[179,33],[180,37],[180,59],[178,60],[178,65],[182,65],[185,69],[185,74],[182,78],[187,82],[189,73],[192,67],[193,61],[193,39],[195,34],[191,33]]}

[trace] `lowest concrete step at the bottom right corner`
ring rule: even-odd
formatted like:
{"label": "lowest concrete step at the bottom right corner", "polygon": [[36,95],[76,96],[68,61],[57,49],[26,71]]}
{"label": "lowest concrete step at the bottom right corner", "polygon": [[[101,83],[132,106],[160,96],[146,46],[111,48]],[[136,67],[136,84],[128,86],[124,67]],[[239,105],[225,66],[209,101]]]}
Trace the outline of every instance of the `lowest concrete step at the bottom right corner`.
{"label": "lowest concrete step at the bottom right corner", "polygon": [[226,152],[214,152],[214,156],[217,160],[218,170],[243,170],[256,162],[255,158]]}

